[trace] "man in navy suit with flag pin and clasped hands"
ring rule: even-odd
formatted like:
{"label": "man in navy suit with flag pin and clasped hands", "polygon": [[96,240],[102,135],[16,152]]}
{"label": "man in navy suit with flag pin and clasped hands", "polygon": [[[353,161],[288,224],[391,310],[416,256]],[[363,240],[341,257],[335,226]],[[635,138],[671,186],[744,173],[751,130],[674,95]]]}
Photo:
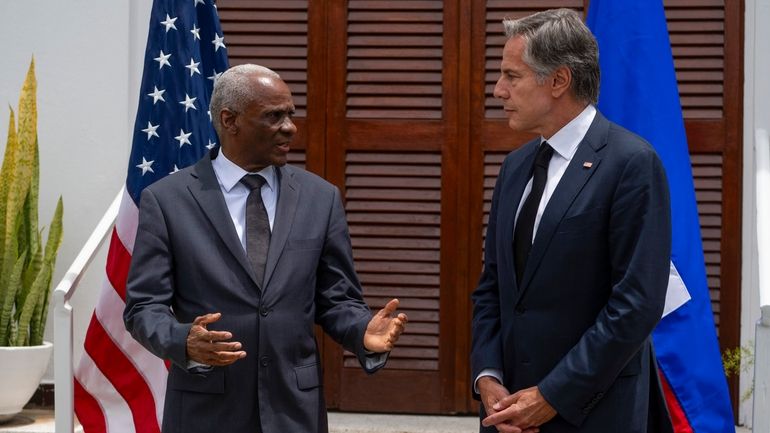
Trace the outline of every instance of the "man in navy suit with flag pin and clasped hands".
{"label": "man in navy suit with flag pin and clasped hands", "polygon": [[502,165],[473,294],[481,431],[671,431],[650,338],[669,275],[661,162],[594,108],[598,50],[577,13],[504,25],[494,95],[539,137]]}

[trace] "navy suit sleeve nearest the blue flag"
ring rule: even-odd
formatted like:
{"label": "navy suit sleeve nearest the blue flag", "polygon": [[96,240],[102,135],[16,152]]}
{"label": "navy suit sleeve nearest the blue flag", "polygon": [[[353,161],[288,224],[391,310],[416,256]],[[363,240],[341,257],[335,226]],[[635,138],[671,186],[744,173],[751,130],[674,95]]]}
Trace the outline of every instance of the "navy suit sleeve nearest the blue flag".
{"label": "navy suit sleeve nearest the blue flag", "polygon": [[668,183],[657,154],[632,155],[613,194],[608,227],[614,282],[596,322],[538,384],[567,421],[580,425],[660,320],[671,255]]}

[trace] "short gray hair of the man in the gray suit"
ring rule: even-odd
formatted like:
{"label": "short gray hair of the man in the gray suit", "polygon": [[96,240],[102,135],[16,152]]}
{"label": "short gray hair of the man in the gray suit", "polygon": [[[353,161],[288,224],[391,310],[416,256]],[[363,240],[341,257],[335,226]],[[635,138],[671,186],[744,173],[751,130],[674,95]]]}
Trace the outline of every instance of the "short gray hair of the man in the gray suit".
{"label": "short gray hair of the man in the gray suit", "polygon": [[222,128],[219,121],[219,113],[222,110],[228,109],[235,113],[242,113],[249,104],[257,99],[259,88],[251,82],[253,75],[281,79],[281,76],[272,69],[248,63],[233,66],[216,79],[214,91],[211,93],[209,111],[211,112],[211,123],[217,134]]}

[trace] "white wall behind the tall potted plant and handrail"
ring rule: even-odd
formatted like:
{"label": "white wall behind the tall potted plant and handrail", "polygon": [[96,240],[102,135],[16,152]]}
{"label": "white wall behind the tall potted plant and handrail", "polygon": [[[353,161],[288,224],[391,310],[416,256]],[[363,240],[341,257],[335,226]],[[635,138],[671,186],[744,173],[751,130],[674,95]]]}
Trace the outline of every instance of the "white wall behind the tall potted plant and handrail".
{"label": "white wall behind the tall potted plant and handrail", "polygon": [[[151,0],[0,1],[0,154],[8,104],[35,56],[40,223],[64,198],[64,242],[54,285],[125,181]],[[104,249],[103,249],[104,250]],[[72,300],[75,362],[104,275],[104,254]],[[52,315],[49,315],[49,317]],[[53,338],[49,320],[46,338]],[[52,368],[45,381],[52,381]]]}

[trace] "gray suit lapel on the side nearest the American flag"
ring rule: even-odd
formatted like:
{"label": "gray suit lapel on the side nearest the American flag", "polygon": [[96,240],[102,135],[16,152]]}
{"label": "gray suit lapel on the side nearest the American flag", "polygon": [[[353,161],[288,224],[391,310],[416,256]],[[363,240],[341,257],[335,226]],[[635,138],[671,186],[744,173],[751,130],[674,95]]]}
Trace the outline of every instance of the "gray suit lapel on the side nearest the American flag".
{"label": "gray suit lapel on the side nearest the American flag", "polygon": [[204,215],[211,221],[211,225],[214,226],[214,230],[222,238],[227,249],[230,250],[233,257],[248,272],[254,284],[261,287],[257,283],[254,271],[246,259],[246,252],[243,250],[243,245],[238,239],[238,233],[236,233],[235,227],[232,224],[232,218],[227,210],[225,198],[222,196],[222,189],[219,187],[219,182],[211,166],[211,158],[216,155],[215,152],[212,151],[212,153],[204,156],[195,164],[190,174],[196,178],[196,181],[191,182],[187,188],[195,198],[195,201],[198,202]]}

